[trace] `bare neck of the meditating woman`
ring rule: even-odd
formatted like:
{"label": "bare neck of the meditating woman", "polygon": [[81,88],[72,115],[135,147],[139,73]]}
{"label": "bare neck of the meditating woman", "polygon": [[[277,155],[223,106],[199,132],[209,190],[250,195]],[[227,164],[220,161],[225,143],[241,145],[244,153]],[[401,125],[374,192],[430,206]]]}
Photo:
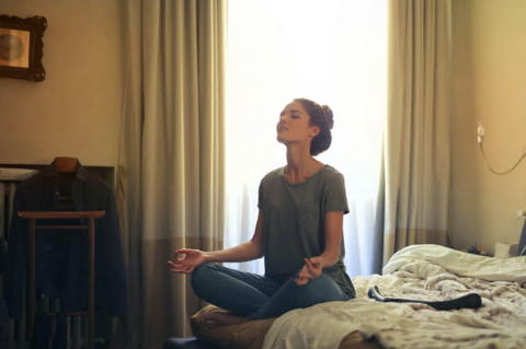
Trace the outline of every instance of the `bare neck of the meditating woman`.
{"label": "bare neck of the meditating woman", "polygon": [[312,158],[309,150],[287,147],[287,166],[285,176],[290,183],[301,183],[321,170],[323,164]]}

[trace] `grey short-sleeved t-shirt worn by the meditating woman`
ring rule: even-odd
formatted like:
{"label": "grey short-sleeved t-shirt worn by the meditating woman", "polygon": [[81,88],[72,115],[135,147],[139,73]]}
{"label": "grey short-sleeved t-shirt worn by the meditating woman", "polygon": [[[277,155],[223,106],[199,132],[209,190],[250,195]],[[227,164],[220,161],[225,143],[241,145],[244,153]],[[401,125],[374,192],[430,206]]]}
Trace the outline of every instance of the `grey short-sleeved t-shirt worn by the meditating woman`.
{"label": "grey short-sleeved t-shirt worn by the meditating woman", "polygon": [[[281,280],[297,272],[305,265],[304,258],[323,253],[327,212],[348,213],[343,175],[330,165],[298,184],[288,182],[285,167],[270,172],[261,181],[258,207],[263,211],[265,275]],[[338,263],[323,272],[354,296],[344,256],[342,236]]]}

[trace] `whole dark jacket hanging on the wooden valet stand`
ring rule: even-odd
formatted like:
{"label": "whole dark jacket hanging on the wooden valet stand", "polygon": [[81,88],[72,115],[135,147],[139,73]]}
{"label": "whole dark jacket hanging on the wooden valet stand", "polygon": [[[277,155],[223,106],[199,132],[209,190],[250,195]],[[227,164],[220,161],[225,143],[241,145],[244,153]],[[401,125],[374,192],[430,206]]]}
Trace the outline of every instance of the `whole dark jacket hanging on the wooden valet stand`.
{"label": "whole dark jacket hanging on the wooden valet stand", "polygon": [[[22,182],[14,196],[8,236],[5,299],[10,317],[22,317],[23,289],[27,270],[27,228],[18,211],[59,211],[60,196],[72,196],[75,211],[106,212],[95,219],[95,309],[108,315],[126,313],[126,271],[118,214],[113,189],[80,163],[75,174],[58,173],[55,162]],[[79,220],[36,220],[37,225],[85,225]],[[88,232],[81,230],[38,230],[36,232],[36,296],[60,301],[60,312],[87,310]]]}

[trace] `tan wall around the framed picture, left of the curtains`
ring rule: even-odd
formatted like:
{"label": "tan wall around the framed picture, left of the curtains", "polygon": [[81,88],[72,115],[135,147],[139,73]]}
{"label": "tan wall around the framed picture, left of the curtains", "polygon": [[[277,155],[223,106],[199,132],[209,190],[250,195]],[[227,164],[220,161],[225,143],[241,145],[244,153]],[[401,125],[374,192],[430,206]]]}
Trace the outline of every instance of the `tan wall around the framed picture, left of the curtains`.
{"label": "tan wall around the framed picture, left of the curtains", "polygon": [[0,0],[0,13],[43,15],[46,80],[0,79],[0,163],[76,156],[116,166],[122,117],[121,1]]}

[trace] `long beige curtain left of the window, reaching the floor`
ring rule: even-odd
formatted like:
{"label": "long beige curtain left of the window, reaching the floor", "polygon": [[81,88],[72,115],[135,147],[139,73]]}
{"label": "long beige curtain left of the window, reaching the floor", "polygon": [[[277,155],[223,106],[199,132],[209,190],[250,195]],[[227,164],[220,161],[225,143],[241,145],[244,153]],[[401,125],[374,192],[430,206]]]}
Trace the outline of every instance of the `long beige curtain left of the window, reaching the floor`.
{"label": "long beige curtain left of the window, reaching the floor", "polygon": [[117,197],[129,284],[127,341],[190,336],[199,307],[181,247],[222,247],[225,0],[123,1],[126,92]]}

